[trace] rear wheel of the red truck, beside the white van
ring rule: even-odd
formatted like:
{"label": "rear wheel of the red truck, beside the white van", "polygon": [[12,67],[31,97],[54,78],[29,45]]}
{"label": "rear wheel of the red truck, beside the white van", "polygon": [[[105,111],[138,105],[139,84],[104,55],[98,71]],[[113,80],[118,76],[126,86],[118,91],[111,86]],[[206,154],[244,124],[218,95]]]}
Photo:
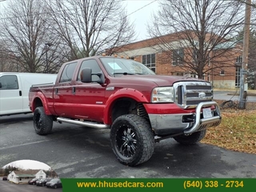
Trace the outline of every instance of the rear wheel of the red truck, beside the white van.
{"label": "rear wheel of the red truck, beside the white van", "polygon": [[45,114],[43,106],[38,106],[34,110],[33,121],[34,130],[37,134],[50,134],[50,131],[53,128],[53,117]]}

